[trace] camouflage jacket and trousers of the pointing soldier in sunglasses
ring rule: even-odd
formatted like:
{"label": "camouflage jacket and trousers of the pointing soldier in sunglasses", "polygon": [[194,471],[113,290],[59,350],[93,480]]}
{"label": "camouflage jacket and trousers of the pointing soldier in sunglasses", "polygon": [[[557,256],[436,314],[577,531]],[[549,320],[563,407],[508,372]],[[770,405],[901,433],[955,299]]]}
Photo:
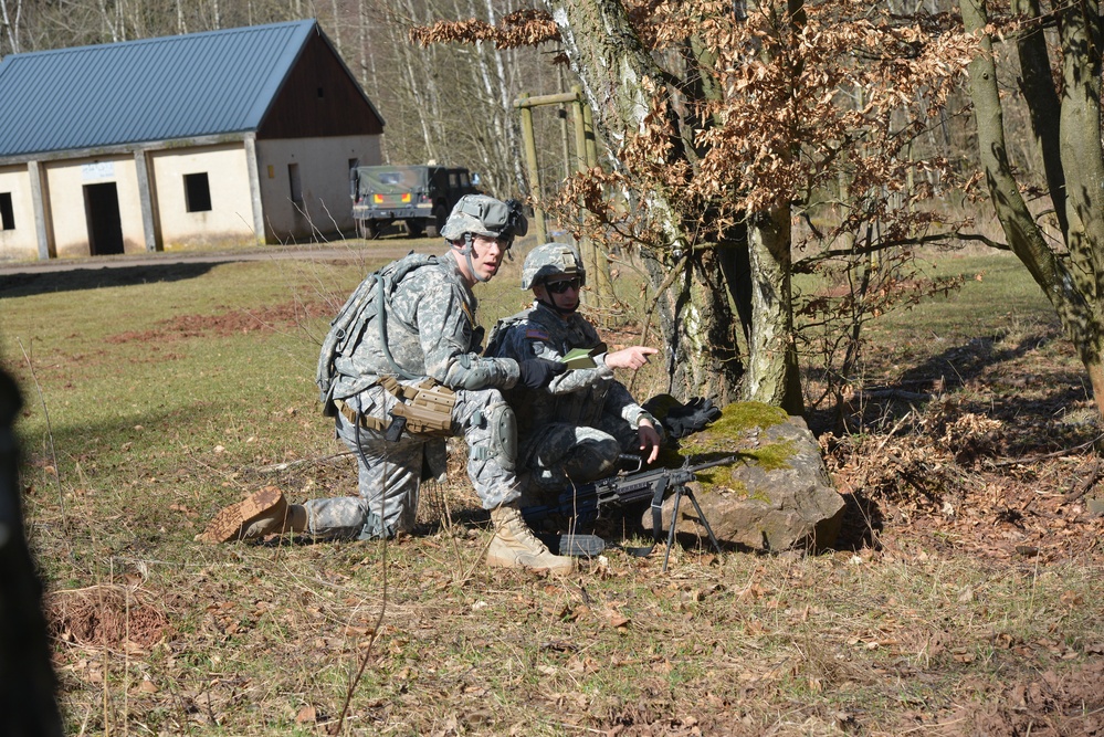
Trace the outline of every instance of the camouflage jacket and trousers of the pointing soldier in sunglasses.
{"label": "camouflage jacket and trousers of the pointing soldier in sunglasses", "polygon": [[[559,360],[574,348],[602,346],[593,326],[583,317],[561,317],[539,302],[500,320],[490,340],[495,356],[526,360]],[[525,503],[546,492],[562,491],[574,481],[586,483],[607,476],[618,456],[639,449],[637,425],[654,419],[613,378],[603,352],[597,366],[556,377],[544,390],[515,386],[504,392],[517,412],[518,465],[529,472]],[[654,423],[656,428],[659,423]]]}

